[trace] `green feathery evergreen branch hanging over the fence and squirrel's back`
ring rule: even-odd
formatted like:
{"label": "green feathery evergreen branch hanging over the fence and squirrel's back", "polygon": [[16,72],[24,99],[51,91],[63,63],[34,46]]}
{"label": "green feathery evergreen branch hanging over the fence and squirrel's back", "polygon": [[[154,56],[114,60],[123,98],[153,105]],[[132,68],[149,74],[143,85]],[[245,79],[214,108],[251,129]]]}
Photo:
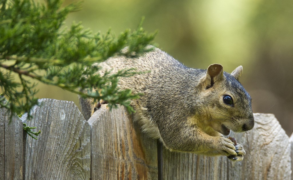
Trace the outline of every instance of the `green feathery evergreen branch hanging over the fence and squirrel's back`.
{"label": "green feathery evergreen branch hanging over the fence and squirrel's back", "polygon": [[[84,98],[104,99],[110,107],[119,103],[133,111],[129,100],[139,95],[117,89],[117,82],[137,72],[131,69],[99,75],[96,72],[100,67],[92,64],[111,56],[139,56],[150,51],[147,45],[155,33],[145,32],[142,23],[137,30],[125,30],[118,37],[111,30],[94,34],[84,30],[81,23],[62,28],[68,13],[79,10],[79,4],[61,5],[61,0],[46,0],[43,4],[33,0],[0,2],[0,87],[1,98],[7,99],[0,99],[1,107],[11,114],[30,115],[38,99],[37,86],[31,81],[34,79]],[[93,87],[99,91],[93,91]]]}

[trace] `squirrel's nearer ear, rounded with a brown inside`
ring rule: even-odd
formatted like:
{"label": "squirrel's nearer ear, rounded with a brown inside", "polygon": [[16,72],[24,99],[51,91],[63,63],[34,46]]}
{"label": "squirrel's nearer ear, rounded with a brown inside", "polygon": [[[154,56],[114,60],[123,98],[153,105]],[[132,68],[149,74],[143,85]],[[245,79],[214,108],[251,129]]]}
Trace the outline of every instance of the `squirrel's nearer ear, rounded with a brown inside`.
{"label": "squirrel's nearer ear, rounded with a brown inside", "polygon": [[222,80],[224,77],[223,74],[223,66],[220,64],[212,64],[207,68],[207,75],[205,77],[206,83],[209,84],[208,87],[212,87],[214,85],[214,79],[216,81]]}

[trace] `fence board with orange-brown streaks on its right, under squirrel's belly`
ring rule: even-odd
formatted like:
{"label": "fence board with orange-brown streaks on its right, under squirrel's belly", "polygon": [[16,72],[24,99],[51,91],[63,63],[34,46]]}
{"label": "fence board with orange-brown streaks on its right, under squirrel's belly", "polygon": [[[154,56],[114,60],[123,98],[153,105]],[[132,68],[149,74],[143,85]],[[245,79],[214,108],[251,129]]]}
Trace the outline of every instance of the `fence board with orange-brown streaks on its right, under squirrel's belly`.
{"label": "fence board with orange-brown streaks on its right, under squirrel's belly", "polygon": [[124,107],[102,105],[91,126],[91,178],[157,179],[157,141],[141,133]]}

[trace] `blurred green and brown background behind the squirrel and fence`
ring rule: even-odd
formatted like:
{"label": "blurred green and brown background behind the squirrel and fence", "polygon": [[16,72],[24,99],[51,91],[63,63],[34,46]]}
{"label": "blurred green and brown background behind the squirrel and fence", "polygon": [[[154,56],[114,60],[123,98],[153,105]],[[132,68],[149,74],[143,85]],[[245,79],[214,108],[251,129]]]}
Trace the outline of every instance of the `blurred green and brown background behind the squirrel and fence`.
{"label": "blurred green and brown background behind the squirrel and fence", "polygon": [[[86,0],[66,25],[82,21],[93,32],[111,27],[118,35],[134,30],[142,16],[148,32],[159,30],[158,47],[188,67],[220,63],[232,72],[242,65],[240,81],[252,96],[253,112],[275,114],[287,134],[292,133],[293,1]],[[79,104],[75,94],[39,87],[39,98]]]}

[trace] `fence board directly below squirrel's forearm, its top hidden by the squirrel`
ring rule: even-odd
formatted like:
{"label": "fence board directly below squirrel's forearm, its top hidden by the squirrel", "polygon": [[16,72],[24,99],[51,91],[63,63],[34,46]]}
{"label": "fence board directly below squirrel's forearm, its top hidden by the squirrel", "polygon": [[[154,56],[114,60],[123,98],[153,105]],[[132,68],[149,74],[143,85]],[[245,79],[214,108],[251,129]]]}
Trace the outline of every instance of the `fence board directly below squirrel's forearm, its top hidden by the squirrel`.
{"label": "fence board directly below squirrel's forearm, its top hidden by the squirrel", "polygon": [[227,158],[163,151],[163,179],[227,179]]}

